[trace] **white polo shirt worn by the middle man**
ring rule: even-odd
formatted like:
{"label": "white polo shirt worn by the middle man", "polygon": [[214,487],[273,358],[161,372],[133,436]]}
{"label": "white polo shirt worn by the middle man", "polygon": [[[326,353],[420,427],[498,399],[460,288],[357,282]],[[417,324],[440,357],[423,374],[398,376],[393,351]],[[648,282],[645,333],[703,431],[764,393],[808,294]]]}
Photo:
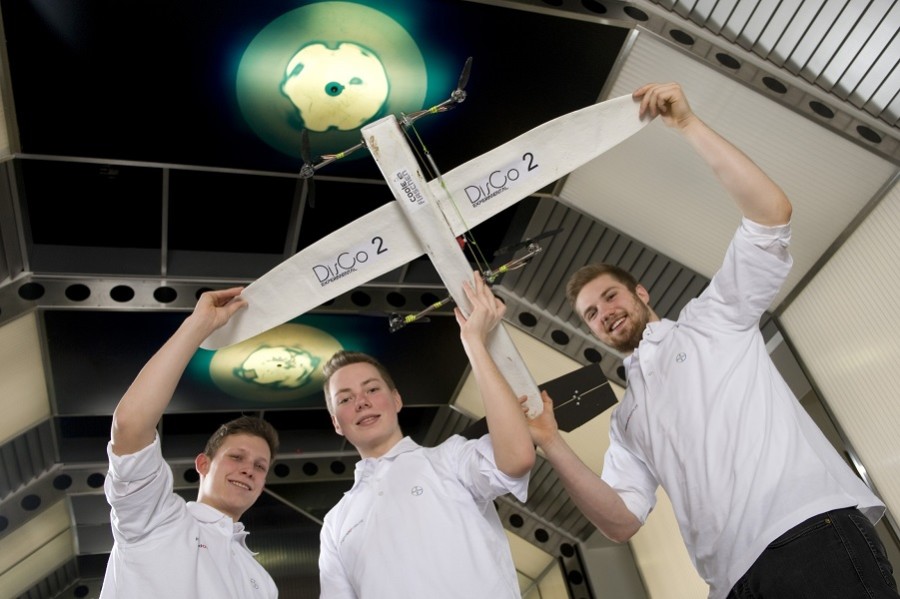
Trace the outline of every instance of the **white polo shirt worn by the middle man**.
{"label": "white polo shirt worn by the middle man", "polygon": [[426,448],[404,437],[360,460],[353,487],[325,516],[322,599],[520,599],[493,500],[525,501],[529,475],[494,463],[490,437]]}

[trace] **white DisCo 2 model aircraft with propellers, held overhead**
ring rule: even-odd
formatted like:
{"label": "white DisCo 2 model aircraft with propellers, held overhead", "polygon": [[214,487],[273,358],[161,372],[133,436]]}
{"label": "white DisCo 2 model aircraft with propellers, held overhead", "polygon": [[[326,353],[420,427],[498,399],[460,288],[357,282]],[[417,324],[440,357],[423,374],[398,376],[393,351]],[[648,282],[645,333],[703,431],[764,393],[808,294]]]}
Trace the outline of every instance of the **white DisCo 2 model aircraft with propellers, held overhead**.
{"label": "white DisCo 2 model aircraft with propellers, held overhead", "polygon": [[[450,296],[468,315],[471,306],[463,281],[473,274],[457,238],[650,122],[639,117],[637,102],[621,96],[548,121],[426,181],[401,127],[462,102],[464,85],[461,78],[445,102],[403,117],[402,122],[390,115],[363,127],[360,144],[326,157],[330,162],[368,148],[397,201],[304,248],[248,285],[242,294],[248,308],[210,335],[202,347],[219,349],[249,339],[422,254],[428,254]],[[307,168],[307,175],[321,164]],[[540,414],[538,387],[503,326],[492,332],[488,349],[516,395],[527,396],[528,416]]]}

